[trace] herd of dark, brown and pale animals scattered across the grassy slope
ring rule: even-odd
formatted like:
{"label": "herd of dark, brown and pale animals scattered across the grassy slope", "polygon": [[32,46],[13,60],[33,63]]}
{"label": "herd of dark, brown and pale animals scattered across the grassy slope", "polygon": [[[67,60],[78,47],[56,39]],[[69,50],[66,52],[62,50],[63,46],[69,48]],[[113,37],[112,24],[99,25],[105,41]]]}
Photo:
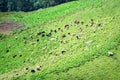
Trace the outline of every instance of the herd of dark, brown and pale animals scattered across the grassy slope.
{"label": "herd of dark, brown and pale animals scattered across the grassy slope", "polygon": [[[83,22],[83,21],[78,21],[78,20],[75,20],[74,21],[74,25],[75,26],[78,26],[78,25],[85,25],[85,23]],[[85,27],[93,27],[95,25],[95,22],[94,22],[94,19],[90,19],[90,21],[89,21],[89,24],[86,24],[85,25]],[[97,27],[102,27],[103,26],[103,24],[102,23],[98,23],[97,25],[96,25]],[[49,32],[46,32],[46,31],[39,31],[39,32],[37,32],[36,33],[36,35],[35,36],[41,36],[41,38],[44,38],[44,37],[51,37],[53,34],[55,34],[55,35],[57,35],[57,33],[59,33],[59,32],[64,32],[64,30],[69,30],[69,28],[70,27],[72,27],[72,25],[69,25],[69,24],[66,24],[66,25],[64,25],[64,27],[63,28],[57,28],[57,29],[54,29],[54,30],[50,30]],[[82,28],[80,28],[80,31],[82,32]],[[95,31],[94,31],[94,33],[95,33]],[[34,37],[35,36],[33,36],[33,35],[30,35],[29,36],[29,38],[27,38],[27,37],[23,37],[23,43],[24,43],[24,45],[26,45],[26,44],[30,44],[30,45],[34,45],[35,43],[28,43],[27,42],[27,40],[28,39],[34,39]],[[77,39],[77,40],[80,40],[80,34],[79,33],[70,33],[70,32],[68,32],[67,34],[62,34],[61,35],[61,38],[62,39],[64,39],[64,38],[66,38],[66,36],[72,36],[74,39]],[[50,38],[50,41],[56,41],[56,39],[57,38]],[[15,37],[15,40],[17,41],[18,40],[18,37]],[[39,42],[40,41],[40,39],[37,39],[36,40],[36,42]],[[60,44],[65,44],[65,43],[68,43],[66,40],[59,40],[59,42],[60,42]],[[91,42],[88,42],[88,44],[91,44]],[[10,47],[9,47],[10,48]],[[9,52],[9,48],[6,50],[6,53],[8,53]],[[46,48],[44,48],[44,49],[46,49]],[[43,50],[44,50],[43,49]],[[62,54],[64,54],[64,53],[66,53],[66,50],[62,50],[61,51],[61,53]],[[22,54],[20,54],[20,55],[17,55],[17,54],[14,54],[13,55],[13,58],[16,58],[16,57],[22,57],[23,55]],[[57,56],[57,55],[56,55]],[[113,56],[113,55],[112,55]],[[4,57],[3,57],[4,58]],[[26,61],[24,61],[23,63],[25,63]],[[36,67],[36,69],[32,69],[31,70],[31,73],[35,73],[36,71],[39,71],[39,70],[41,70],[42,69],[42,66],[40,65],[40,66],[37,66]],[[26,71],[28,71],[29,70],[29,67],[26,67],[25,68],[25,70]],[[18,76],[19,74],[18,73],[16,73],[16,75]]]}

